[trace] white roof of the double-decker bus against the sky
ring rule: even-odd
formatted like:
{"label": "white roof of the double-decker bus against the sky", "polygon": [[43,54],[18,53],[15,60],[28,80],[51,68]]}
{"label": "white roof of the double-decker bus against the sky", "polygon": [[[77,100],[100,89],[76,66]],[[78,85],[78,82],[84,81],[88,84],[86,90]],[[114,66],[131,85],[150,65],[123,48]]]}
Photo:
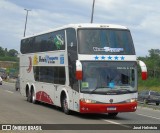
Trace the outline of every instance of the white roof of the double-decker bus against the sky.
{"label": "white roof of the double-decker bus against the sky", "polygon": [[25,38],[30,38],[30,37],[34,37],[34,36],[38,36],[38,35],[42,35],[42,34],[46,34],[46,33],[50,33],[53,31],[58,31],[58,30],[62,30],[62,29],[66,29],[66,28],[75,28],[75,29],[80,29],[80,28],[109,28],[109,29],[128,29],[125,26],[122,25],[116,25],[116,24],[91,24],[91,23],[82,23],[82,24],[68,24],[59,28],[55,28],[55,29],[51,29],[45,32],[41,32],[38,34],[34,34],[34,35],[30,35],[27,37],[23,37],[22,39]]}

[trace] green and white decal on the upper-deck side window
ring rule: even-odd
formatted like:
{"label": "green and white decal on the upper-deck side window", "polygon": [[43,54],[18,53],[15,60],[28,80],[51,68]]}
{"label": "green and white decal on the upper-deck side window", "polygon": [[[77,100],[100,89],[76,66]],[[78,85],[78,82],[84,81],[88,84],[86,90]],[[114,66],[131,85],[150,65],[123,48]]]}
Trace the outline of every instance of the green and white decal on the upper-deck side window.
{"label": "green and white decal on the upper-deck side window", "polygon": [[60,49],[62,45],[64,45],[64,38],[62,35],[56,35],[54,38],[54,43],[57,47],[57,49]]}

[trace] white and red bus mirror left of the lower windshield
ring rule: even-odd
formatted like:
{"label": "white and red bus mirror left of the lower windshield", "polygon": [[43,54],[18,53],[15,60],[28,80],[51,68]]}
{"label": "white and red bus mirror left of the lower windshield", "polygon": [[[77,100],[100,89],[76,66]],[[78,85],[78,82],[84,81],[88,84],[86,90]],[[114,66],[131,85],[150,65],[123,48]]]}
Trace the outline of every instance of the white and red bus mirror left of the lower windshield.
{"label": "white and red bus mirror left of the lower windshield", "polygon": [[82,80],[82,64],[79,60],[76,61],[76,79]]}

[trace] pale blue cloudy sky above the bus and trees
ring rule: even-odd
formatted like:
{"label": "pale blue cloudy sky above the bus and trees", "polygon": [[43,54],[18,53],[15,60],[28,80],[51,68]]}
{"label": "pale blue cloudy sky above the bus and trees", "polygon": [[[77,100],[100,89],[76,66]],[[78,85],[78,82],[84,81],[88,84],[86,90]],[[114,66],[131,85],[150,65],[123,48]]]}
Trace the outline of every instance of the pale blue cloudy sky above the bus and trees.
{"label": "pale blue cloudy sky above the bus and trees", "polygon": [[[90,23],[93,0],[0,0],[0,47],[16,49],[24,35],[67,24]],[[93,23],[130,29],[137,56],[160,49],[160,0],[95,0]]]}

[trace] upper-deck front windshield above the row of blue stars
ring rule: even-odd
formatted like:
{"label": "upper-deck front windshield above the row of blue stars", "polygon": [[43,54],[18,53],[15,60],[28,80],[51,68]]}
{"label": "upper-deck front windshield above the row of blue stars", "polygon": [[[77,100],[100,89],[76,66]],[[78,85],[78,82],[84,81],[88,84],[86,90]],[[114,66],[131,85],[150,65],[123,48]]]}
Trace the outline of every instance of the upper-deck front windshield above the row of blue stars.
{"label": "upper-deck front windshield above the row of blue stars", "polygon": [[79,29],[80,54],[135,55],[129,30]]}

